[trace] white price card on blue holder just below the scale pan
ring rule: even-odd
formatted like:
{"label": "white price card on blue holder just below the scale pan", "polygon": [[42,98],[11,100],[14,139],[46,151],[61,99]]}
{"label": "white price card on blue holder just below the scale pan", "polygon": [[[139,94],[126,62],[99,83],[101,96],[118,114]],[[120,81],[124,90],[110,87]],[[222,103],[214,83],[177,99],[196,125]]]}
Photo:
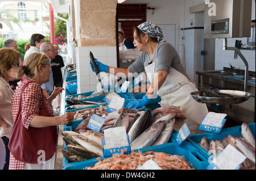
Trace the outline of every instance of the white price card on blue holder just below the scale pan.
{"label": "white price card on blue holder just below the scale pan", "polygon": [[226,117],[225,113],[209,112],[201,124],[209,125],[212,127],[222,127],[222,121]]}

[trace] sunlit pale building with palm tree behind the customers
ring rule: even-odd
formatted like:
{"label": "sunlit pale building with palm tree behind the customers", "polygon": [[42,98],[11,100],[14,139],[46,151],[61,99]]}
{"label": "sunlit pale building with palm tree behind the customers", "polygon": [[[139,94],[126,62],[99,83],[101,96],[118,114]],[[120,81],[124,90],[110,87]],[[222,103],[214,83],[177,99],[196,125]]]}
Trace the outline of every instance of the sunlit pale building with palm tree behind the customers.
{"label": "sunlit pale building with palm tree behind the customers", "polygon": [[[48,3],[32,1],[1,1],[0,14],[2,29],[0,37],[3,39],[30,39],[33,33],[46,35],[49,32],[49,7]],[[11,15],[11,17],[10,17]],[[14,19],[8,21],[3,19]],[[19,25],[18,25],[19,24]]]}

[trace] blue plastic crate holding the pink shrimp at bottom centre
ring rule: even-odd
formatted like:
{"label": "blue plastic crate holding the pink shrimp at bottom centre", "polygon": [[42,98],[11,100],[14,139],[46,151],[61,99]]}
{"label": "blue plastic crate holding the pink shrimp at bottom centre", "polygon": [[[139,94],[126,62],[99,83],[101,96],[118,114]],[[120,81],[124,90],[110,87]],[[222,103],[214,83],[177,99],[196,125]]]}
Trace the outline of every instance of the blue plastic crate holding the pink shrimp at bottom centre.
{"label": "blue plastic crate holding the pink shrimp at bottom centre", "polygon": [[[155,152],[163,152],[171,155],[179,155],[183,156],[193,167],[197,170],[206,170],[209,165],[208,159],[201,155],[200,152],[196,150],[196,148],[189,143],[183,147],[177,146],[175,143],[168,143],[157,146],[150,146],[148,148],[138,149],[134,151],[141,151],[142,153],[146,151],[155,151]],[[105,159],[105,157],[100,157],[100,159]],[[68,163],[63,167],[63,170],[85,170],[86,167],[94,166],[98,162],[97,158],[89,159],[87,161],[82,162],[73,162]]]}

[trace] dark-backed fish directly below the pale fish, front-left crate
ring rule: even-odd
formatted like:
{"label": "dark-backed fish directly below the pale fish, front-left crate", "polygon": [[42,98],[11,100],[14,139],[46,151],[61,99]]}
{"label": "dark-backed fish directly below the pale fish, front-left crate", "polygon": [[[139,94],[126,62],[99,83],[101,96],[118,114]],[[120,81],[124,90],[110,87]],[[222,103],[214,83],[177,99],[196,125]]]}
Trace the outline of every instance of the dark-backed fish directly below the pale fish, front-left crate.
{"label": "dark-backed fish directly below the pale fish, front-left crate", "polygon": [[78,145],[67,145],[67,150],[70,153],[75,154],[84,159],[92,159],[92,158],[100,157],[100,155],[93,153],[93,151],[87,150],[84,147],[78,146]]}

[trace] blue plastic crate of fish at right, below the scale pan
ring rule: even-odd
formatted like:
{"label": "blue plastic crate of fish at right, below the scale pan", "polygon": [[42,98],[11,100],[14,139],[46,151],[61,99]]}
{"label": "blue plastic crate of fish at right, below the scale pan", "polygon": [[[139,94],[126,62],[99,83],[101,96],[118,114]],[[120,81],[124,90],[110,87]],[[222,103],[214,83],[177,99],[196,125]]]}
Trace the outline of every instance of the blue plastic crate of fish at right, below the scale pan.
{"label": "blue plastic crate of fish at right, below the scale pan", "polygon": [[[251,132],[254,134],[254,138],[255,138],[255,123],[251,123],[248,125],[251,129]],[[208,152],[205,149],[203,149],[200,145],[198,145],[197,143],[201,142],[201,140],[203,139],[204,136],[207,137],[207,140],[209,142],[210,140],[213,140],[213,141],[223,140],[223,138],[227,137],[229,134],[232,136],[242,136],[241,126],[222,129],[219,134],[210,133],[210,132],[194,134],[192,136],[188,136],[187,141],[191,142],[191,144],[193,144],[196,148],[200,149],[205,155],[210,157],[211,155],[208,154]]]}

